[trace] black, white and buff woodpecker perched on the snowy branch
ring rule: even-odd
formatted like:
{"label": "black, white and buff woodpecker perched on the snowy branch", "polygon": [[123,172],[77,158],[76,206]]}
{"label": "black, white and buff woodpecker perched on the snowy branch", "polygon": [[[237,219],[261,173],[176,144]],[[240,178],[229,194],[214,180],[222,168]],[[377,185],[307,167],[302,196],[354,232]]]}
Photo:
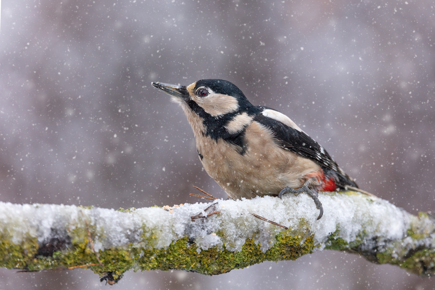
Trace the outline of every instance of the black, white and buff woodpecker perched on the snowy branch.
{"label": "black, white and buff woodpecker perched on the snowy branch", "polygon": [[307,193],[320,214],[318,191],[358,189],[328,152],[289,117],[252,105],[226,80],[188,86],[152,82],[186,114],[208,175],[236,199]]}

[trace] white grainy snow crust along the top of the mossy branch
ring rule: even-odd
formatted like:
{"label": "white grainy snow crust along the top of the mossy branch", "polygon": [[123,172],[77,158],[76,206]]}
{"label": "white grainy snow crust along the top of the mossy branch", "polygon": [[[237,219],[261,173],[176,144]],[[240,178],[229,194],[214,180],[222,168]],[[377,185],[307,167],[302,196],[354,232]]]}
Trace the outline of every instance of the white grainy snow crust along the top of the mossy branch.
{"label": "white grainy snow crust along the top of the mossy branch", "polygon": [[[325,247],[324,242],[328,236],[336,230],[339,230],[337,237],[347,242],[355,240],[363,230],[372,237],[402,239],[413,218],[388,201],[359,193],[321,193],[319,199],[325,210],[320,220],[316,220],[318,210],[306,194],[288,195],[282,200],[265,196],[251,200],[186,203],[170,210],[150,207],[136,209],[131,213],[74,205],[0,202],[0,231],[10,235],[16,244],[20,244],[26,237],[37,237],[38,243],[42,243],[53,236],[74,230],[77,222],[83,227],[86,220],[85,225],[97,229],[95,250],[139,243],[143,236],[151,235],[157,238],[145,243],[142,241],[141,244],[164,248],[173,240],[187,235],[194,238],[198,251],[221,247],[223,244],[228,250],[239,251],[245,239],[251,237],[261,243],[264,252],[274,245],[278,233],[284,231],[290,235],[301,224],[304,225],[302,230],[310,229],[307,234],[314,233],[315,243],[321,250]],[[212,204],[214,206],[210,207]],[[204,212],[207,207],[210,208]],[[191,221],[192,216],[200,213],[206,216],[215,211],[220,213]],[[252,213],[287,226],[289,230],[259,220]],[[224,233],[224,238],[217,234],[218,231]]]}

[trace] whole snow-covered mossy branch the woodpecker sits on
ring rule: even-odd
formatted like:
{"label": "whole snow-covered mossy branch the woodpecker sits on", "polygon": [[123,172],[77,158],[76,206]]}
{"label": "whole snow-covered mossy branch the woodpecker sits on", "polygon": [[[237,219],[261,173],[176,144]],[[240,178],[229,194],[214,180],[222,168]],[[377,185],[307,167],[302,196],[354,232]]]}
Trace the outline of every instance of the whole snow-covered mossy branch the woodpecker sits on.
{"label": "whole snow-covered mossy branch the woodpecker sits on", "polygon": [[129,269],[214,275],[330,249],[434,275],[435,221],[429,213],[416,217],[356,192],[321,193],[319,199],[325,210],[320,220],[306,194],[117,211],[0,203],[0,267],[89,267],[115,283]]}

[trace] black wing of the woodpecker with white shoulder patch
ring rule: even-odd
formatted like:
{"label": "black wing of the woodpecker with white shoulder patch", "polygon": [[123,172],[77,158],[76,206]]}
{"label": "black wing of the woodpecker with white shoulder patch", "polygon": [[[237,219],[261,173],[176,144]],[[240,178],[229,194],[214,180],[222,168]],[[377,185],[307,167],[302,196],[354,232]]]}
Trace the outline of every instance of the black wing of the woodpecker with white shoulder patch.
{"label": "black wing of the woodpecker with white shoulder patch", "polygon": [[335,163],[328,152],[302,131],[289,117],[277,110],[263,106],[259,107],[261,112],[254,117],[254,121],[274,133],[278,146],[313,160],[322,169],[326,169],[325,171],[332,170],[338,175],[340,185],[358,187],[351,177]]}

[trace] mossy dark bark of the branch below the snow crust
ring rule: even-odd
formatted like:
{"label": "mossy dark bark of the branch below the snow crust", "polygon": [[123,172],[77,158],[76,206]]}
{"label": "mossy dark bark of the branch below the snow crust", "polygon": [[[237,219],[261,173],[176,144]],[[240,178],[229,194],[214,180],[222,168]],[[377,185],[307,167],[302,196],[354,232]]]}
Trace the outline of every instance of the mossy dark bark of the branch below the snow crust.
{"label": "mossy dark bark of the branch below the snow crust", "polygon": [[[20,205],[14,205],[20,207]],[[54,206],[57,207],[57,206]],[[60,206],[58,206],[60,207]],[[397,240],[379,237],[361,230],[352,241],[340,237],[340,228],[329,233],[324,240],[315,241],[315,232],[301,222],[297,228],[281,230],[274,236],[274,244],[263,250],[256,243],[254,233],[244,237],[241,250],[228,250],[225,246],[224,230],[217,231],[224,243],[207,249],[198,248],[195,240],[188,235],[173,239],[167,247],[155,247],[158,235],[143,226],[141,238],[135,242],[94,250],[95,240],[107,236],[101,228],[93,225],[90,215],[94,208],[79,208],[80,218],[58,228],[51,228],[49,238],[38,241],[36,230],[29,228],[17,241],[14,227],[8,227],[9,220],[1,220],[0,267],[29,271],[88,267],[109,283],[118,281],[127,270],[185,270],[204,275],[216,275],[232,269],[248,267],[265,260],[295,260],[315,250],[330,249],[357,253],[374,263],[391,263],[422,276],[435,274],[435,223],[430,214],[418,217],[409,215],[410,227]],[[123,214],[131,215],[127,210]],[[189,221],[191,223],[195,223]],[[248,226],[249,225],[243,225]],[[207,227],[204,223],[203,227]],[[274,227],[274,226],[273,226]],[[378,243],[382,240],[382,243]],[[385,242],[388,241],[388,242]],[[412,246],[410,246],[412,245]]]}

